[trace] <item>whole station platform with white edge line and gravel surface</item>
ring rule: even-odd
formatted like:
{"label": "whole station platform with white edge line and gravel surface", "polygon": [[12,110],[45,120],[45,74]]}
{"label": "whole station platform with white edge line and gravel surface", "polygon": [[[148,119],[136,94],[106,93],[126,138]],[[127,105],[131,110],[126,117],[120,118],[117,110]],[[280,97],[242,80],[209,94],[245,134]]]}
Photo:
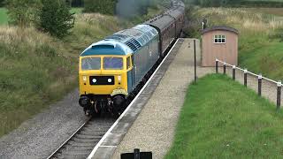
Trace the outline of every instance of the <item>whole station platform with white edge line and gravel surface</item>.
{"label": "whole station platform with white edge line and gravel surface", "polygon": [[[200,42],[196,40],[197,75],[213,72],[200,67]],[[134,102],[112,125],[88,158],[120,158],[134,148],[163,158],[174,137],[187,86],[194,80],[194,39],[179,39],[163,64]]]}

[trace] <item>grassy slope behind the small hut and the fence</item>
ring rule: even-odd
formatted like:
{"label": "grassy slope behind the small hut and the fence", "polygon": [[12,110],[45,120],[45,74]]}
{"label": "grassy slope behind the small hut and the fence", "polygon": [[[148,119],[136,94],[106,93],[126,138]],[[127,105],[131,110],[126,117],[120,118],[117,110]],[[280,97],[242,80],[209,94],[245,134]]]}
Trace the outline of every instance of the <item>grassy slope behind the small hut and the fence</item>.
{"label": "grassy slope behind the small hut and the fence", "polygon": [[277,11],[281,9],[201,8],[194,16],[206,17],[210,26],[237,28],[240,66],[278,80],[283,79],[283,17]]}

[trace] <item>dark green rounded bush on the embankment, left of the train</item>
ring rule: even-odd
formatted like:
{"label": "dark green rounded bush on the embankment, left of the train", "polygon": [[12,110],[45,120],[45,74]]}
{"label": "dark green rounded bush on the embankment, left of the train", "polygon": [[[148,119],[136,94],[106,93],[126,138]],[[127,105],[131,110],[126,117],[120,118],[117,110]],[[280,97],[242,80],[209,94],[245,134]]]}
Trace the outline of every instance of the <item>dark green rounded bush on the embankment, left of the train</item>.
{"label": "dark green rounded bush on the embankment, left of the train", "polygon": [[73,27],[74,17],[70,6],[65,0],[42,0],[42,10],[39,14],[38,27],[58,38],[69,34]]}

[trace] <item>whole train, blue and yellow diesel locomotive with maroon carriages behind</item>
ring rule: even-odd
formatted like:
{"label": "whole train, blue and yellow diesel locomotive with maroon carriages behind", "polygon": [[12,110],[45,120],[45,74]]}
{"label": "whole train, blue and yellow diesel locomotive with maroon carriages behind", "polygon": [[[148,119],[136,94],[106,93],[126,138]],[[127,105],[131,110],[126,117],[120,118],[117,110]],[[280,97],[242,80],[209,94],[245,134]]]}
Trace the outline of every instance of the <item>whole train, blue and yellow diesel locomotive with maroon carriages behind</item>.
{"label": "whole train, blue and yellow diesel locomotive with maroon carriages behind", "polygon": [[180,36],[184,10],[182,2],[173,2],[162,15],[93,43],[80,54],[79,103],[86,115],[119,115],[125,110],[137,87]]}

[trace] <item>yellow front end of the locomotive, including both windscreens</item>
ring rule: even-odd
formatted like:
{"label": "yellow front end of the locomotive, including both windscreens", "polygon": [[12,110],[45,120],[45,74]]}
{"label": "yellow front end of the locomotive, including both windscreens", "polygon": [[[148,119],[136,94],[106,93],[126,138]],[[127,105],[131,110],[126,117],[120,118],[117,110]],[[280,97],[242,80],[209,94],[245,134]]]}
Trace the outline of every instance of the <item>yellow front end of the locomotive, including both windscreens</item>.
{"label": "yellow front end of the locomotive, including both windscreens", "polygon": [[[113,58],[116,58],[116,61]],[[81,57],[79,72],[80,95],[113,96],[120,93],[126,95],[127,79],[124,58],[111,56]],[[112,65],[107,64],[107,62],[111,62]]]}

